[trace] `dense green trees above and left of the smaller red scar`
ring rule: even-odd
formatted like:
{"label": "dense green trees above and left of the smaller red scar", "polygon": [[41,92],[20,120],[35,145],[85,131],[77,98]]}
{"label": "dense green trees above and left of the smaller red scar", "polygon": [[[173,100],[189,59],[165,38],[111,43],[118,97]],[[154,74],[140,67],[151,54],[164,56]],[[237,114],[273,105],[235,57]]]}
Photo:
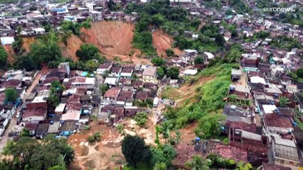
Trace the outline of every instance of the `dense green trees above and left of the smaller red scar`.
{"label": "dense green trees above and left of the smaller red scar", "polygon": [[[152,1],[149,4],[129,3],[126,12],[137,12],[141,16],[136,24],[133,44],[147,56],[156,55],[152,45],[151,28],[161,28],[171,35],[181,35],[184,34],[184,30],[196,31],[201,23],[198,19],[189,20],[184,8],[169,6],[169,1]],[[185,37],[182,36],[181,40],[182,38]],[[184,44],[177,43],[176,47],[181,47],[182,50]],[[167,52],[174,55],[169,50]]]}

